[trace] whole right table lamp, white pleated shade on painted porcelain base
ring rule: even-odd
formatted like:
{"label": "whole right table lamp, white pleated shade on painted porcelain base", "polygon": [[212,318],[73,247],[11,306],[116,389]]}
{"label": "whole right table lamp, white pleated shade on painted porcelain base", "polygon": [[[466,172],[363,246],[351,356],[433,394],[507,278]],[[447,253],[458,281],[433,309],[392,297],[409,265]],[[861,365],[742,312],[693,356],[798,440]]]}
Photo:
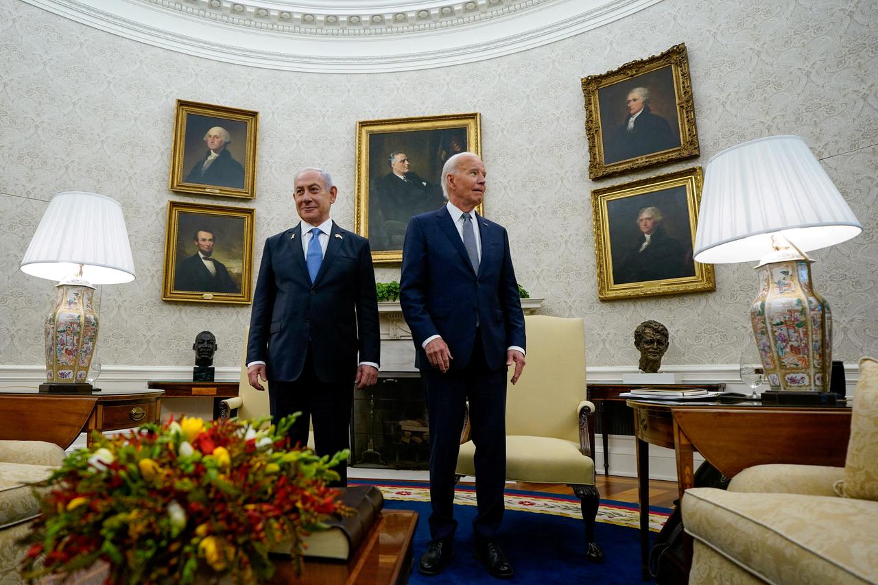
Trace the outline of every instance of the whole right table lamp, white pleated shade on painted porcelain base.
{"label": "whole right table lamp, white pleated shade on painted porcelain base", "polygon": [[832,366],[829,304],[811,285],[805,252],[863,230],[820,162],[798,136],[726,148],[705,170],[694,259],[759,260],[753,335],[771,390],[764,402],[827,404]]}

